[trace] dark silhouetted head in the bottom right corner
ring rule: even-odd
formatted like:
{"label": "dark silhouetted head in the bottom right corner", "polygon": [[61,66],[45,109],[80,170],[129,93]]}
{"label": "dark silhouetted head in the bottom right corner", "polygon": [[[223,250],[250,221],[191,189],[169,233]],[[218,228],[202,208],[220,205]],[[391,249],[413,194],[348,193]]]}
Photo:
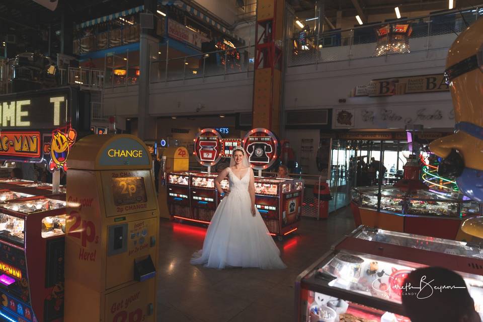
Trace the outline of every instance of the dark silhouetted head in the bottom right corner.
{"label": "dark silhouetted head in the bottom right corner", "polygon": [[481,321],[463,278],[446,268],[425,267],[413,271],[402,291],[405,315],[412,322]]}

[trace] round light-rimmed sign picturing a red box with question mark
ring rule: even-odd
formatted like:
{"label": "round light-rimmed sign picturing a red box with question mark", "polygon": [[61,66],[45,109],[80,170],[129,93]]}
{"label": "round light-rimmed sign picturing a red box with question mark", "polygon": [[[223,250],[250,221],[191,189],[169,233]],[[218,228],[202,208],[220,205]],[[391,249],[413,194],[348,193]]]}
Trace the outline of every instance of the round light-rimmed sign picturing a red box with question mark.
{"label": "round light-rimmed sign picturing a red box with question mark", "polygon": [[193,139],[193,154],[203,166],[214,166],[221,158],[221,136],[215,129],[203,129]]}

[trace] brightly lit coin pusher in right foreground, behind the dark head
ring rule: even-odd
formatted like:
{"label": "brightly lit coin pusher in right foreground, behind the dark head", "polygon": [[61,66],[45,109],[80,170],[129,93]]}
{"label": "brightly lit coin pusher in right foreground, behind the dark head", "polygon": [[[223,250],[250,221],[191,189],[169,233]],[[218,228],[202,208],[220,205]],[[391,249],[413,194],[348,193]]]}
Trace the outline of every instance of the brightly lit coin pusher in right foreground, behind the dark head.
{"label": "brightly lit coin pusher in right foreground, behind the dark head", "polygon": [[425,266],[460,274],[483,317],[482,258],[462,241],[359,226],[297,277],[297,321],[410,322],[404,280]]}

